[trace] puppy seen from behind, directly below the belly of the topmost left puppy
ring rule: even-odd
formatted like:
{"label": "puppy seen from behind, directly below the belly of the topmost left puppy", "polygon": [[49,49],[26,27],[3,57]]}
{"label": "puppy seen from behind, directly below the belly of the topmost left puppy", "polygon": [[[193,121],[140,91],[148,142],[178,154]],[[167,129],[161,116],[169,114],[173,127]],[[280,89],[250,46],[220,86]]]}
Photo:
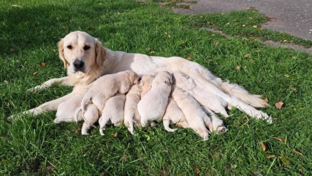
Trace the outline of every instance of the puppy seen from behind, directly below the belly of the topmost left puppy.
{"label": "puppy seen from behind, directly below the belly of the topmost left puppy", "polygon": [[125,94],[119,93],[107,100],[102,112],[102,116],[99,119],[101,135],[104,135],[103,130],[105,130],[104,128],[106,124],[114,124],[115,126],[119,126],[123,123],[125,100]]}

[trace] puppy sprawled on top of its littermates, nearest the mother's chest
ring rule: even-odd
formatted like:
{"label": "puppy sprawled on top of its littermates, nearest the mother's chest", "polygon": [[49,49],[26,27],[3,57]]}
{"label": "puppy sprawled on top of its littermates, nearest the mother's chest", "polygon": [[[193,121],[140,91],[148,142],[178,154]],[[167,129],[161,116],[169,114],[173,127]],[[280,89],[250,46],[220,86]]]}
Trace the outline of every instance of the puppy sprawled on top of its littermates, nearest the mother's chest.
{"label": "puppy sprawled on top of its littermates, nearest the mother's chest", "polygon": [[[82,129],[82,134],[88,134],[87,130],[90,124],[96,123],[99,118],[99,116],[94,118],[90,116],[88,116],[88,118],[84,117],[87,103],[94,104],[97,107],[98,114],[102,114],[105,103],[109,98],[114,96],[117,92],[120,94],[127,93],[130,86],[133,84],[138,84],[138,75],[133,71],[105,75],[94,81],[92,87],[85,94],[81,102],[81,109],[78,108],[75,112],[75,119],[77,119],[76,115],[79,114],[80,110],[83,111],[83,118],[85,120],[83,127],[85,128]],[[94,108],[90,109],[94,110]],[[87,114],[96,114],[96,112],[87,112]]]}

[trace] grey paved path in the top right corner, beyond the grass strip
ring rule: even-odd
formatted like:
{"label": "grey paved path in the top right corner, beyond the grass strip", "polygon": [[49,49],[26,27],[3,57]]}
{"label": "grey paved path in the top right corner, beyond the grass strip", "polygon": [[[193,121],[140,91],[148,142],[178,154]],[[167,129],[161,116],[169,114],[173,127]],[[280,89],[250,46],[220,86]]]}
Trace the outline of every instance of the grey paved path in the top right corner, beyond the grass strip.
{"label": "grey paved path in the top right corner, beyond the grass strip", "polygon": [[255,8],[271,18],[262,27],[312,40],[312,0],[198,0],[178,13],[215,13]]}

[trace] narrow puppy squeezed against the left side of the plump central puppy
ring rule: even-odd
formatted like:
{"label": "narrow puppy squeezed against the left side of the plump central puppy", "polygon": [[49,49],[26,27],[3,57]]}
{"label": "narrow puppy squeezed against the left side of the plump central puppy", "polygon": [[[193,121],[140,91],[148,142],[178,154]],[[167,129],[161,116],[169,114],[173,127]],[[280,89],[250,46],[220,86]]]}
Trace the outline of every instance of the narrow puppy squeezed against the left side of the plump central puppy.
{"label": "narrow puppy squeezed against the left side of the plump central puppy", "polygon": [[135,126],[141,126],[140,114],[137,110],[137,103],[140,101],[141,86],[131,86],[129,92],[126,95],[125,101],[125,113],[124,113],[124,124],[128,127],[128,131],[133,134],[134,124]]}

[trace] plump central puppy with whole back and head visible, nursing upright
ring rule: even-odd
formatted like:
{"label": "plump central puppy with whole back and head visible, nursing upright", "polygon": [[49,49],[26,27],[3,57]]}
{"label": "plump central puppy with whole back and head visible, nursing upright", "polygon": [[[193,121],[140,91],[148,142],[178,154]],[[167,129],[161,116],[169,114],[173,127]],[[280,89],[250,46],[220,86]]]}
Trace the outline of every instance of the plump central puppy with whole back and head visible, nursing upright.
{"label": "plump central puppy with whole back and head visible, nursing upright", "polygon": [[145,127],[148,122],[163,119],[171,92],[171,85],[172,75],[169,72],[161,72],[154,78],[150,91],[137,104],[142,127]]}

